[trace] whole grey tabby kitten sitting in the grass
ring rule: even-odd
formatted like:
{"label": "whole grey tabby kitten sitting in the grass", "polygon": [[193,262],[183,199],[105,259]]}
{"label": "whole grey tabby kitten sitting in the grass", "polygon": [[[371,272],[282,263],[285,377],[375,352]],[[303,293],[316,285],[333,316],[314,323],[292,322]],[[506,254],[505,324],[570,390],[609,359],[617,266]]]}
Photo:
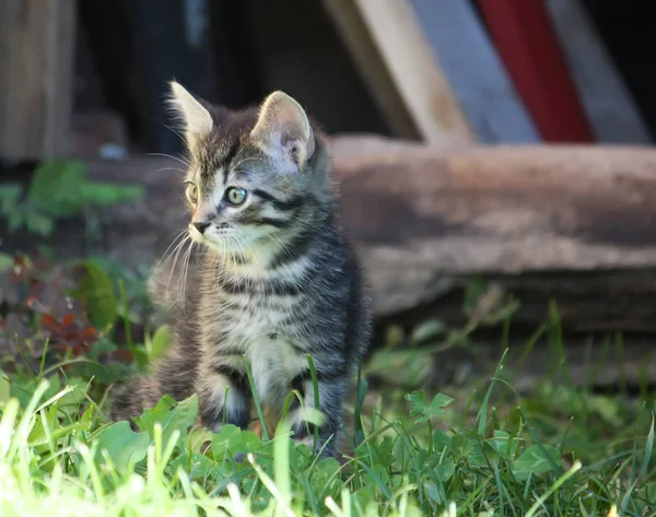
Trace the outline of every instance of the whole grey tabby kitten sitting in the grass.
{"label": "whole grey tabby kitten sitting in the grass", "polygon": [[[112,416],[138,416],[165,393],[177,400],[197,393],[204,426],[246,428],[253,393],[243,355],[262,406],[280,415],[293,389],[306,407],[315,404],[309,354],[324,416],[318,446],[335,456],[372,313],[339,222],[326,139],[282,92],[259,109],[232,111],[176,82],[171,89],[190,158],[188,236],[202,252],[174,273],[185,278],[151,279],[151,293],[164,305],[172,292],[163,287],[178,280],[183,286],[169,310],[175,342],[152,376],[116,398]],[[289,413],[294,438],[311,443],[314,427],[301,409],[293,402]]]}

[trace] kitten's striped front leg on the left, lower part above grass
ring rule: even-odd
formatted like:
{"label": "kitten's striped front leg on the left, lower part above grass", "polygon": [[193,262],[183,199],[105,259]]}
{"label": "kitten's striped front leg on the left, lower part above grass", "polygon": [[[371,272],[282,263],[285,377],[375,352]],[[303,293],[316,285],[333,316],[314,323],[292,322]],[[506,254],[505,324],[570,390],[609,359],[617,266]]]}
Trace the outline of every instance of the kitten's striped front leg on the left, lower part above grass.
{"label": "kitten's striped front leg on the left, lower part above grass", "polygon": [[[250,390],[242,368],[229,361],[202,365],[197,380],[202,424],[218,433],[224,423],[243,430],[250,421]],[[227,395],[227,399],[226,399]]]}

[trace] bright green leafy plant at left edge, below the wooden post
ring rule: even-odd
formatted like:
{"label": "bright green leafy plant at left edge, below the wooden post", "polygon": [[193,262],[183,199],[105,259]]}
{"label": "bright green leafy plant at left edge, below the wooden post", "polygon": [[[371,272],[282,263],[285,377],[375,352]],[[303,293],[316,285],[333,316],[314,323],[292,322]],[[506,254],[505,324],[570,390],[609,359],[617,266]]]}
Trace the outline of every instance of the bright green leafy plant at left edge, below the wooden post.
{"label": "bright green leafy plant at left edge, below the wooden post", "polygon": [[90,181],[86,174],[83,162],[50,161],[37,167],[27,189],[20,184],[1,185],[0,213],[9,231],[26,230],[47,237],[59,219],[143,196],[141,186]]}

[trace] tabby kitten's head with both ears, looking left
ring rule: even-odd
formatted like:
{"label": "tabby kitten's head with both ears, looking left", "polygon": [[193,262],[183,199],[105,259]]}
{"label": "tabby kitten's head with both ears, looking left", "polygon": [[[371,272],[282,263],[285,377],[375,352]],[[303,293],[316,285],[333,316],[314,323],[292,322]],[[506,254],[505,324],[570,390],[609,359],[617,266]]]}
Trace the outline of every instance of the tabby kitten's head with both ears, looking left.
{"label": "tabby kitten's head with both ears, looking left", "polygon": [[283,92],[259,108],[212,106],[171,83],[189,150],[189,235],[218,254],[271,258],[330,205],[324,139]]}

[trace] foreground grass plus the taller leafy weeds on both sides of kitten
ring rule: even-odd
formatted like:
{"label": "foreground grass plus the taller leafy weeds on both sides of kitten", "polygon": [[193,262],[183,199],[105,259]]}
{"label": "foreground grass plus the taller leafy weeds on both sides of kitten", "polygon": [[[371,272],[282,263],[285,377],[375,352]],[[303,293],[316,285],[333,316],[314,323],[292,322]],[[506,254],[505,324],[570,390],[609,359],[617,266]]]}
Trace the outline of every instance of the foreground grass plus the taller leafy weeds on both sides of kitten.
{"label": "foreground grass plus the taller leafy weeds on both sides of kitten", "polygon": [[[136,419],[137,431],[108,422],[112,384],[159,356],[169,333],[153,329],[140,343],[128,332],[118,346],[117,329],[143,325],[132,314],[139,291],[128,292],[136,282],[124,279],[115,296],[101,266],[85,268],[80,296],[103,329],[93,345],[74,341],[56,355],[46,342],[39,351],[43,316],[32,306],[11,309],[34,333],[0,375],[1,517],[656,516],[654,398],[646,386],[640,397],[623,386],[606,396],[577,387],[555,305],[516,351],[526,357],[534,345],[550,346],[555,360],[527,393],[514,389],[517,372],[505,354],[488,376],[434,378],[434,359],[476,351],[480,325],[500,326],[507,349],[516,302],[482,310],[480,283],[467,293],[462,329],[427,321],[403,336],[391,328],[354,390],[340,462],[294,446],[285,425],[263,439],[232,425],[219,434],[196,428],[196,397],[165,397]],[[87,325],[82,313],[75,321]],[[70,328],[56,322],[47,328],[63,339]],[[602,375],[604,365],[597,369]]]}

